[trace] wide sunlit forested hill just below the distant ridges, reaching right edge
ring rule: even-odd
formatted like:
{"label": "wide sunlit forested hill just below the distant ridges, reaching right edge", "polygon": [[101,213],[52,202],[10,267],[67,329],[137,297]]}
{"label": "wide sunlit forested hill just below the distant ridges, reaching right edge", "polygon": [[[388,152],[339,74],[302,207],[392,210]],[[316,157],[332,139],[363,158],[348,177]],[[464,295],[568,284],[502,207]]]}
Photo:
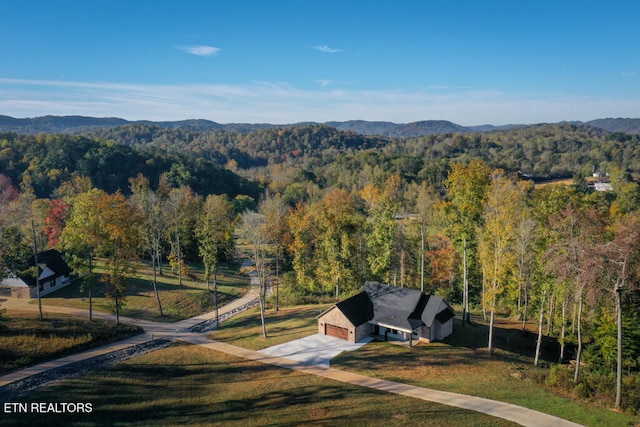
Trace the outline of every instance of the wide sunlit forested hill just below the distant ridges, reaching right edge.
{"label": "wide sunlit forested hill just below the distant ridges, reaching right edge", "polygon": [[[194,153],[219,165],[251,169],[296,165],[331,167],[345,156],[376,151],[399,163],[413,162],[411,172],[434,159],[447,163],[482,159],[511,172],[538,178],[585,177],[611,166],[640,174],[638,135],[608,133],[588,125],[553,124],[483,133],[388,138],[341,132],[326,125],[269,128],[248,133],[197,132],[146,125],[93,131],[93,135],[133,146],[152,145]],[[404,160],[407,158],[408,160]]]}

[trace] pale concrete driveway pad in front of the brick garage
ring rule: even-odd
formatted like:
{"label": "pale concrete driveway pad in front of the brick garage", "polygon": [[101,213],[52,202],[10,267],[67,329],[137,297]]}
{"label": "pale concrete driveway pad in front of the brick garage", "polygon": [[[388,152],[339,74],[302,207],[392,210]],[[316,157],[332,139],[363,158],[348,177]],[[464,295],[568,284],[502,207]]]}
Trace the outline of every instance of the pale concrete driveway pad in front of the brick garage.
{"label": "pale concrete driveway pad in front of the brick garage", "polygon": [[274,345],[273,347],[260,350],[260,353],[270,356],[283,357],[296,362],[302,362],[308,365],[318,365],[329,367],[331,359],[336,357],[343,351],[354,351],[370,342],[371,338],[351,344],[340,338],[334,338],[327,335],[315,334],[308,337],[300,338],[295,341],[289,341],[284,344]]}

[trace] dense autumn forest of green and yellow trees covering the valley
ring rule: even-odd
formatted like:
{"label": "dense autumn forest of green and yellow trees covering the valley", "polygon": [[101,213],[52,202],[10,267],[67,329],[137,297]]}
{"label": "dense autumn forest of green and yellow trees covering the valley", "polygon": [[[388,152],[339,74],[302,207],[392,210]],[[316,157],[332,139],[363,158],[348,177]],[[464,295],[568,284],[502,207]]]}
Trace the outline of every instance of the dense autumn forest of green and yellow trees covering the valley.
{"label": "dense autumn forest of green and yellow trees covering the valley", "polygon": [[[326,125],[5,133],[0,262],[26,269],[33,219],[76,271],[108,260],[117,306],[136,259],[185,273],[198,262],[208,283],[242,239],[283,304],[343,298],[365,280],[438,293],[490,331],[498,315],[537,330],[535,363],[546,343],[562,367],[552,385],[638,409],[638,143],[576,124],[415,138]],[[594,174],[612,191],[589,187]]]}

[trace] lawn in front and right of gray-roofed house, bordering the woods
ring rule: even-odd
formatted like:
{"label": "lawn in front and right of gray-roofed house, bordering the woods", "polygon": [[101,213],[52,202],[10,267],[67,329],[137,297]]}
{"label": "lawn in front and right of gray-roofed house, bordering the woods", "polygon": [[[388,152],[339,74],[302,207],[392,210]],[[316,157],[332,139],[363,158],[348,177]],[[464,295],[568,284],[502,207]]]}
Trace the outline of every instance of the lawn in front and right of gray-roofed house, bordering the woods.
{"label": "lawn in front and right of gray-roofed house, bordering the woods", "polygon": [[[462,327],[456,319],[454,334],[441,343],[420,343],[407,348],[371,342],[339,355],[331,366],[371,377],[420,387],[451,391],[509,402],[586,426],[638,425],[640,419],[616,413],[577,398],[560,396],[532,378],[544,375],[514,337],[520,331],[496,328],[501,348],[489,356],[484,325]],[[513,348],[509,348],[509,347]],[[513,351],[511,351],[513,350]]]}

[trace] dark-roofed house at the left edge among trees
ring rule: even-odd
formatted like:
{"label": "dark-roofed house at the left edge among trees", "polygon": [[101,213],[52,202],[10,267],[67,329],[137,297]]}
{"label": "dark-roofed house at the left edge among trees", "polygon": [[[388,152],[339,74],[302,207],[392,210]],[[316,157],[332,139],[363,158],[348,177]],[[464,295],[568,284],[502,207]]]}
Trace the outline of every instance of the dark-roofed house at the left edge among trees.
{"label": "dark-roofed house at the left edge among trees", "polygon": [[[29,266],[35,265],[35,257],[29,260]],[[55,249],[38,254],[38,277],[40,296],[47,295],[71,283],[71,268],[62,258],[62,254]],[[10,289],[15,298],[36,298],[36,281],[33,278],[20,277],[15,272],[9,272],[8,277],[0,281],[0,287]]]}

